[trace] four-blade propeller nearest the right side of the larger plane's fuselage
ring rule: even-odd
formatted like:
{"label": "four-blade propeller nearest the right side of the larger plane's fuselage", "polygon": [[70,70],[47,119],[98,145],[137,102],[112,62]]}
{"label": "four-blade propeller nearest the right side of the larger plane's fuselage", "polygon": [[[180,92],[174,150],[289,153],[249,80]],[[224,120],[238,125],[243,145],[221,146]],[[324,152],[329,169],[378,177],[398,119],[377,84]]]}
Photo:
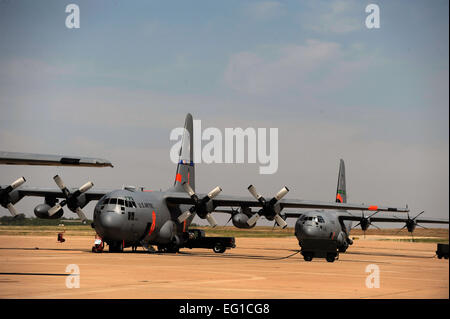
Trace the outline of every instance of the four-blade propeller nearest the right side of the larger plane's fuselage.
{"label": "four-blade propeller nearest the right side of the larger plane's fuselage", "polygon": [[217,186],[212,191],[210,191],[208,195],[206,195],[202,199],[199,199],[197,194],[195,194],[195,191],[192,189],[191,185],[184,182],[183,188],[194,201],[194,206],[192,206],[187,211],[178,216],[178,222],[182,223],[186,219],[188,219],[193,213],[197,213],[197,215],[200,218],[208,220],[208,223],[212,227],[217,226],[216,220],[211,215],[211,212],[213,211],[214,207],[211,205],[212,203],[210,202],[210,200],[216,197],[222,191],[222,189],[219,186]]}

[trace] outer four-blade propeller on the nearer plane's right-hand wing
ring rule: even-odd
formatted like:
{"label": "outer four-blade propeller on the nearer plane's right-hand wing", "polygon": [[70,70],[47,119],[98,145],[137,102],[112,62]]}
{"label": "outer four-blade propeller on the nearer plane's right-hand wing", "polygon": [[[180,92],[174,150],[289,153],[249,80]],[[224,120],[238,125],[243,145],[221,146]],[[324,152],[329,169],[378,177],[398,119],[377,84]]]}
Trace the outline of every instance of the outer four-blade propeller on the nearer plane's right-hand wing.
{"label": "outer four-blade propeller on the nearer plane's right-hand wing", "polygon": [[282,199],[289,192],[289,189],[286,186],[284,186],[270,201],[266,201],[264,197],[259,195],[256,191],[255,186],[253,186],[253,185],[250,185],[248,187],[248,191],[262,205],[262,208],[259,210],[259,212],[255,213],[252,217],[250,217],[248,219],[247,224],[249,226],[253,226],[261,216],[264,216],[268,220],[275,219],[277,224],[281,228],[286,228],[287,223],[280,216],[280,211],[281,211],[280,205],[277,205],[278,201],[280,199]]}

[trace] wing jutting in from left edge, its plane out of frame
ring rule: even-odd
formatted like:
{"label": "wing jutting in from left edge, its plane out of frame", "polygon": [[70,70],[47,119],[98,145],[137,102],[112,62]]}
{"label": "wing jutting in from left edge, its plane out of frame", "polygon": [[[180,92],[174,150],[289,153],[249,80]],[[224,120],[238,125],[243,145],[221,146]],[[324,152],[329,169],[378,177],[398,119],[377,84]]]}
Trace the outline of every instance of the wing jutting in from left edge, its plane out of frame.
{"label": "wing jutting in from left edge, its plane out of frame", "polygon": [[45,166],[84,166],[113,167],[110,161],[102,158],[16,153],[0,151],[0,164],[7,165],[45,165]]}

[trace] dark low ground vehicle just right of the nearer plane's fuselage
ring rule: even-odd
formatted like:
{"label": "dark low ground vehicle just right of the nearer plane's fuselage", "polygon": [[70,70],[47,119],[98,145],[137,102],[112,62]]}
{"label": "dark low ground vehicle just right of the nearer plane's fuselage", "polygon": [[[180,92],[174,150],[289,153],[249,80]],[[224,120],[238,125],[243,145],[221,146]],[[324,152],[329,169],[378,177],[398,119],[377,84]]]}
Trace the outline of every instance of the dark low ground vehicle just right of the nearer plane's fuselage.
{"label": "dark low ground vehicle just right of the nearer plane's fuselage", "polygon": [[190,229],[185,232],[185,248],[209,248],[217,254],[224,253],[229,248],[235,248],[234,237],[206,237],[201,229]]}

